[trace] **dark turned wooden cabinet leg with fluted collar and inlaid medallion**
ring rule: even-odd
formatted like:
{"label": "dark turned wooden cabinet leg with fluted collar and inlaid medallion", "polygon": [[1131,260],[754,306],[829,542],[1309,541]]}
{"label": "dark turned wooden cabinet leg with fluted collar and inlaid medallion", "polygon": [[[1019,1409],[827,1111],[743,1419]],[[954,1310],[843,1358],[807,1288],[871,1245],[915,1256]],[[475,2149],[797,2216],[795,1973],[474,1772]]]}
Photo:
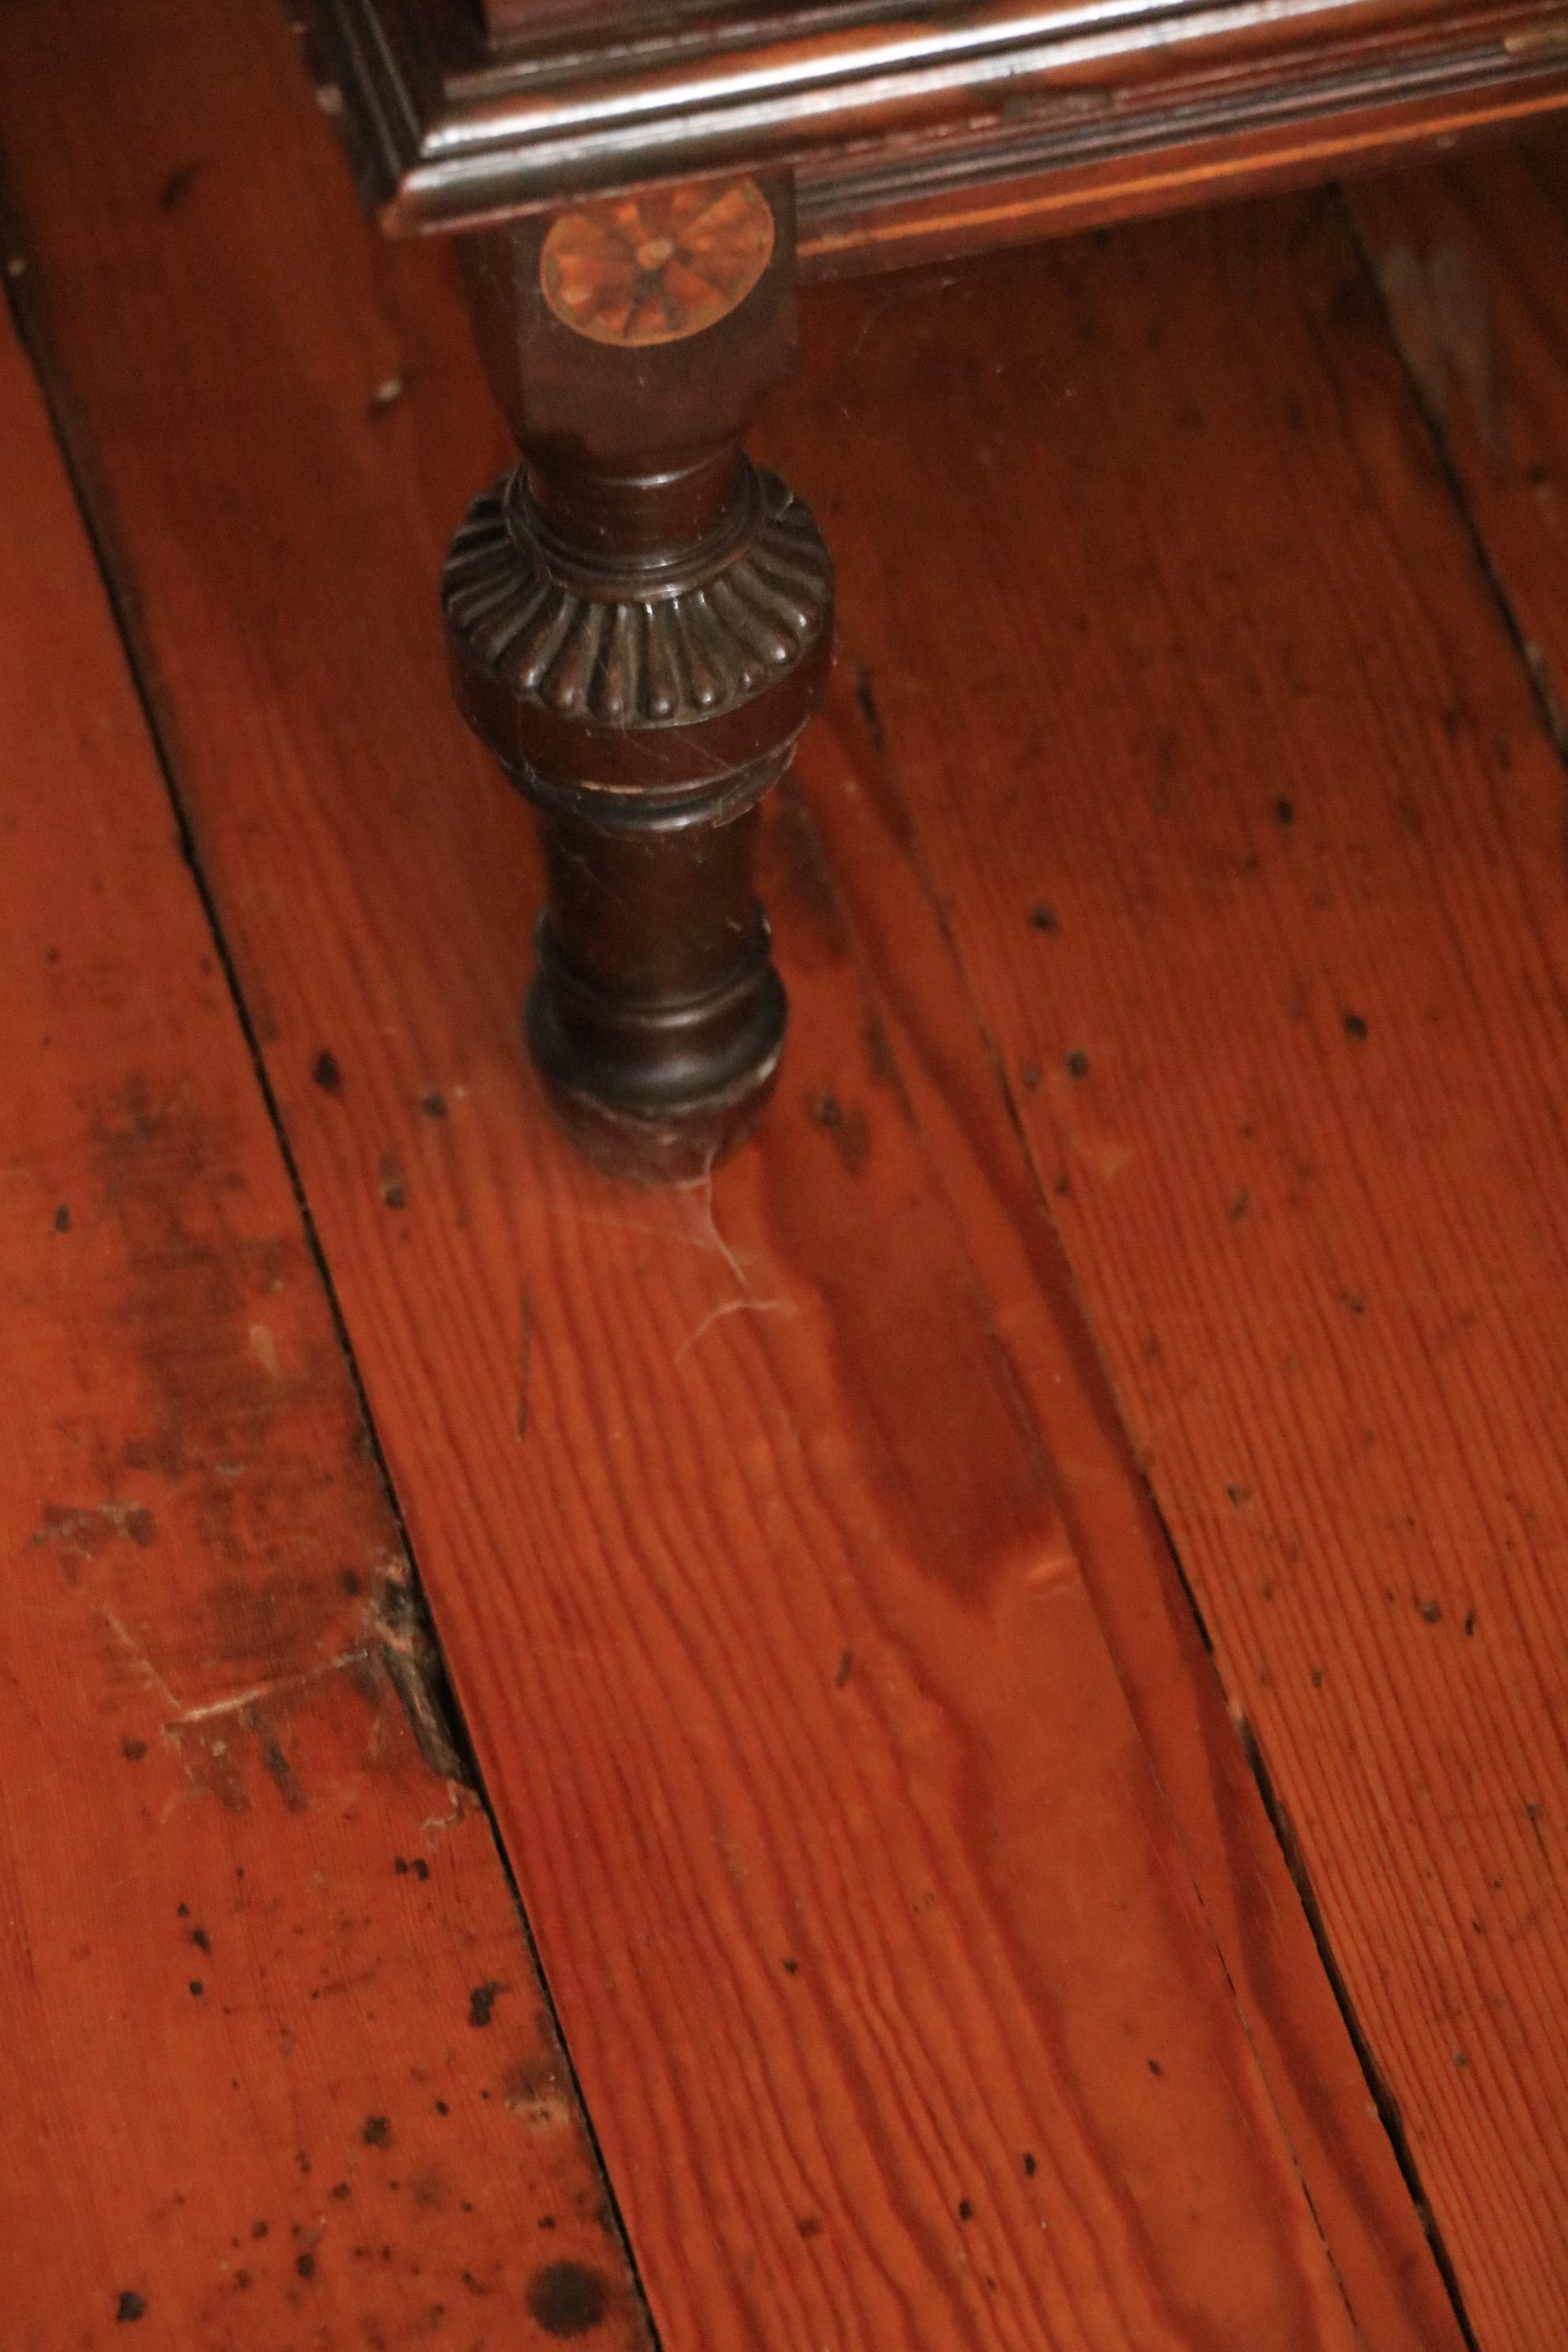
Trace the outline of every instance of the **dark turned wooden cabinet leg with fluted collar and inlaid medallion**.
{"label": "dark turned wooden cabinet leg with fluted collar and inlaid medallion", "polygon": [[741,449],[795,353],[790,186],[611,198],[461,254],[522,463],[442,604],[463,717],[538,811],[529,1047],[583,1150],[682,1181],[778,1070],[752,840],[827,680],[827,550]]}

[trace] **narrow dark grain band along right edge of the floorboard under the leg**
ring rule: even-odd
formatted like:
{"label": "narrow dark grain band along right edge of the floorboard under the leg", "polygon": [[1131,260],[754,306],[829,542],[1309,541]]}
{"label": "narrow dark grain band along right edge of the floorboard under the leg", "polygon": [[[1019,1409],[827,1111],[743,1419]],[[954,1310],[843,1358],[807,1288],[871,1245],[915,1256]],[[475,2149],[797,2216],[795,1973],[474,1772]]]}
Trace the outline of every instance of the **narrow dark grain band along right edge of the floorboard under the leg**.
{"label": "narrow dark grain band along right edge of the floorboard under the leg", "polygon": [[1371,2345],[1458,2352],[1460,2324],[1126,1446],[1072,1272],[1039,1185],[1018,1164],[994,1073],[976,1065],[973,1004],[952,983],[940,915],[907,856],[907,826],[849,675],[802,769],[835,882],[896,1007],[905,1091],[1048,1435],[1053,1494],[1349,2305]]}

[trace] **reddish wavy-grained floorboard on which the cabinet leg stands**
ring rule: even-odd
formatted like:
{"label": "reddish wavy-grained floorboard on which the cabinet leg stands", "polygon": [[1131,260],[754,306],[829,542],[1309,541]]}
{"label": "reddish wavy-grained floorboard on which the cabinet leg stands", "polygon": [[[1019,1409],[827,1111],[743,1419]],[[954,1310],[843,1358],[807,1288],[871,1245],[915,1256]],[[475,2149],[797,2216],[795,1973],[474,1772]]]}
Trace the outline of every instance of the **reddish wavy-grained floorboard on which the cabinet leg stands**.
{"label": "reddish wavy-grained floorboard on which the cabinet leg stands", "polygon": [[[430,619],[498,449],[449,282],[353,223],[261,0],[158,16],[5,19],[40,303],[665,2340],[1366,2340],[1382,2209],[1340,2263],[809,830],[792,1094],[628,1202],[520,1087],[527,835]],[[1246,1856],[1218,1915],[1276,1898]],[[1366,2147],[1326,2060],[1324,2145]]]}

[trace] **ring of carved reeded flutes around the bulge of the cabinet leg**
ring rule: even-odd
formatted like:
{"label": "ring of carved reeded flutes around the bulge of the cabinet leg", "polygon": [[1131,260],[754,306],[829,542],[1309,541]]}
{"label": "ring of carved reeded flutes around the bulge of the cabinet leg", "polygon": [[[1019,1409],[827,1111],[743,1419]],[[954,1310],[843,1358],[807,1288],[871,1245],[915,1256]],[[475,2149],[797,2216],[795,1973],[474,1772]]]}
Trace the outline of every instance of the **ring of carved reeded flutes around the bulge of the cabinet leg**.
{"label": "ring of carved reeded flutes around the bulge of the cabinet leg", "polygon": [[468,508],[442,574],[447,628],[517,701],[602,727],[717,717],[785,677],[827,626],[832,560],[811,510],[762,473],[762,522],[677,593],[597,597],[508,524],[508,482]]}

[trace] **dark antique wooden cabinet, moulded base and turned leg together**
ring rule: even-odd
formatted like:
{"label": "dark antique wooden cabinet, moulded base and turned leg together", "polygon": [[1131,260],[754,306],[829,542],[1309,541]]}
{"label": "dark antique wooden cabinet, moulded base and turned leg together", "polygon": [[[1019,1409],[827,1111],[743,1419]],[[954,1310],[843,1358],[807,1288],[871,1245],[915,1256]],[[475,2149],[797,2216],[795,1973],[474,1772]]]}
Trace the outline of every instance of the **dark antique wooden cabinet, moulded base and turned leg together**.
{"label": "dark antique wooden cabinet, moulded base and turned leg together", "polygon": [[1554,0],[313,0],[393,233],[461,230],[522,449],[442,583],[456,696],[538,809],[529,1044],[628,1176],[757,1120],[785,997],[757,804],[832,569],[743,454],[802,278],[1328,179],[1568,99]]}

